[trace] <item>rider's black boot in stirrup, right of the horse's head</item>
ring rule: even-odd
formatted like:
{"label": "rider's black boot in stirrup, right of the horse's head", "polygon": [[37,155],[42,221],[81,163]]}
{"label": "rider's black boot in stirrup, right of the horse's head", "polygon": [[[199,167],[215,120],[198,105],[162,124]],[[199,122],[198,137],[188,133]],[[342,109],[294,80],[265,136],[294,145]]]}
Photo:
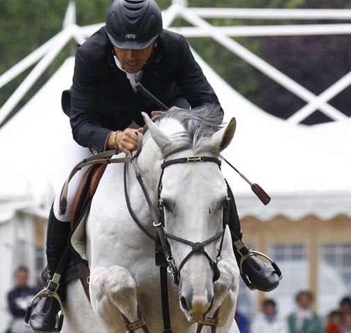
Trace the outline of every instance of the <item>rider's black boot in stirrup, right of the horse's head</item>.
{"label": "rider's black boot in stirrup, right of the horse's head", "polygon": [[228,226],[232,232],[232,242],[235,258],[240,268],[241,278],[243,282],[252,290],[271,291],[279,284],[281,273],[276,264],[266,264],[262,262],[255,251],[250,250],[241,241],[243,234],[241,233],[240,220],[235,205],[232,190],[228,186],[228,196],[230,198],[228,212]]}

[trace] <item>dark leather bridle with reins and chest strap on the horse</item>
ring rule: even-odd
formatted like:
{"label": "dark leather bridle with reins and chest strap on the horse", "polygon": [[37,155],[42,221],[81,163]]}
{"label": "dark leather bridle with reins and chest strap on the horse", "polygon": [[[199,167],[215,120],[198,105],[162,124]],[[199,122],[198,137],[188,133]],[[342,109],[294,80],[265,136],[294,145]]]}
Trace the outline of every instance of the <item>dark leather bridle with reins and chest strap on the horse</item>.
{"label": "dark leather bridle with reins and chest strap on the horse", "polygon": [[[127,164],[124,165],[124,193],[126,196],[126,204],[128,207],[128,210],[130,212],[130,215],[132,216],[132,219],[135,221],[135,223],[139,226],[139,228],[153,241],[155,241],[155,261],[156,265],[160,266],[160,280],[161,280],[161,293],[162,293],[162,315],[163,315],[163,321],[164,321],[164,333],[169,332],[171,333],[171,321],[170,321],[170,316],[169,316],[169,304],[168,304],[168,286],[167,286],[167,277],[166,277],[166,271],[171,273],[173,275],[173,283],[178,285],[180,282],[180,271],[182,267],[185,265],[187,260],[195,254],[202,254],[205,255],[206,259],[209,262],[209,266],[211,266],[212,271],[214,273],[213,275],[213,282],[219,279],[220,277],[220,271],[218,268],[218,262],[221,260],[221,252],[222,252],[222,246],[223,246],[223,239],[224,239],[224,234],[225,234],[225,227],[228,224],[228,205],[229,205],[229,198],[225,201],[225,204],[223,205],[223,229],[221,232],[218,234],[215,234],[213,237],[202,241],[202,242],[192,242],[188,241],[187,239],[182,239],[180,237],[177,237],[173,234],[169,234],[165,230],[165,225],[164,225],[164,202],[161,198],[161,192],[162,192],[162,178],[164,175],[164,169],[166,167],[169,167],[170,165],[173,164],[184,164],[184,163],[193,163],[193,162],[214,162],[221,167],[221,160],[217,157],[211,157],[211,156],[196,156],[196,157],[182,157],[182,158],[177,158],[173,160],[168,160],[165,161],[161,164],[161,175],[160,175],[160,180],[158,183],[158,189],[157,189],[157,198],[158,198],[158,208],[159,212],[157,214],[155,207],[153,206],[152,200],[150,195],[148,194],[148,191],[144,185],[144,181],[142,179],[142,175],[139,172],[139,169],[137,168],[137,165],[135,163],[135,160],[131,160],[132,165],[134,167],[135,175],[137,177],[137,180],[139,182],[140,187],[142,188],[142,191],[144,193],[144,196],[146,198],[146,202],[148,203],[148,208],[151,212],[151,218],[153,220],[153,226],[155,227],[156,231],[156,236],[154,237],[151,232],[149,232],[142,223],[137,219],[137,216],[135,216],[134,212],[132,211],[132,207],[130,205],[130,200],[128,196],[128,190],[126,186],[126,176],[127,176]],[[205,246],[207,244],[212,243],[213,241],[216,241],[217,239],[221,238],[220,246],[217,249],[217,255],[216,259],[213,260],[208,253],[205,251]],[[171,246],[169,244],[168,239],[173,239],[176,241],[179,241],[183,244],[187,244],[191,246],[191,251],[185,256],[185,258],[182,260],[180,263],[179,267],[176,266],[176,262],[172,256],[171,252]],[[165,270],[166,268],[166,270]],[[219,309],[216,309],[214,318],[208,318],[205,315],[203,316],[203,321],[200,321],[198,323],[198,329],[196,333],[200,333],[203,329],[203,326],[209,326],[211,327],[212,333],[216,332],[216,327],[219,323]]]}

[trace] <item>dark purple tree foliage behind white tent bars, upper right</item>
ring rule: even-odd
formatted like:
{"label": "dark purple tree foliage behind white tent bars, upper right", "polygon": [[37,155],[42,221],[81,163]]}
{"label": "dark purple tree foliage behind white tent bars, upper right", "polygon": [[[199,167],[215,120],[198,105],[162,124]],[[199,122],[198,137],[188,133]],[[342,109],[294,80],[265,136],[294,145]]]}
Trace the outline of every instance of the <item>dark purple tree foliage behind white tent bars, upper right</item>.
{"label": "dark purple tree foliage behind white tent bars, upper right", "polygon": [[[350,6],[348,0],[307,0],[301,3],[299,8],[337,9]],[[323,23],[336,22],[323,21]],[[261,46],[264,58],[316,95],[324,92],[351,69],[350,35],[266,37],[262,39]],[[306,104],[266,76],[259,76],[258,86],[257,103],[278,117],[287,118]],[[348,87],[330,101],[331,105],[348,116],[351,115],[350,92],[351,88]],[[303,123],[313,124],[329,120],[325,114],[317,110]]]}

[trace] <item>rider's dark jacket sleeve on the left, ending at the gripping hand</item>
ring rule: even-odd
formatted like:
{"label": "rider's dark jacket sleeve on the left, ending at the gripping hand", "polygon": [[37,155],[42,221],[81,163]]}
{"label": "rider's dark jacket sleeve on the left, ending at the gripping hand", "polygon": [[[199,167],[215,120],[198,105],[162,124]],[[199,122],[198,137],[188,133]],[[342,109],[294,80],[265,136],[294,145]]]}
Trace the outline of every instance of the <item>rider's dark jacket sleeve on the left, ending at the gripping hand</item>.
{"label": "rider's dark jacket sleeve on the left, ending at the gripping hand", "polygon": [[82,48],[76,52],[71,87],[70,122],[74,139],[93,153],[104,151],[111,130],[103,128],[98,117],[99,87],[94,68]]}

